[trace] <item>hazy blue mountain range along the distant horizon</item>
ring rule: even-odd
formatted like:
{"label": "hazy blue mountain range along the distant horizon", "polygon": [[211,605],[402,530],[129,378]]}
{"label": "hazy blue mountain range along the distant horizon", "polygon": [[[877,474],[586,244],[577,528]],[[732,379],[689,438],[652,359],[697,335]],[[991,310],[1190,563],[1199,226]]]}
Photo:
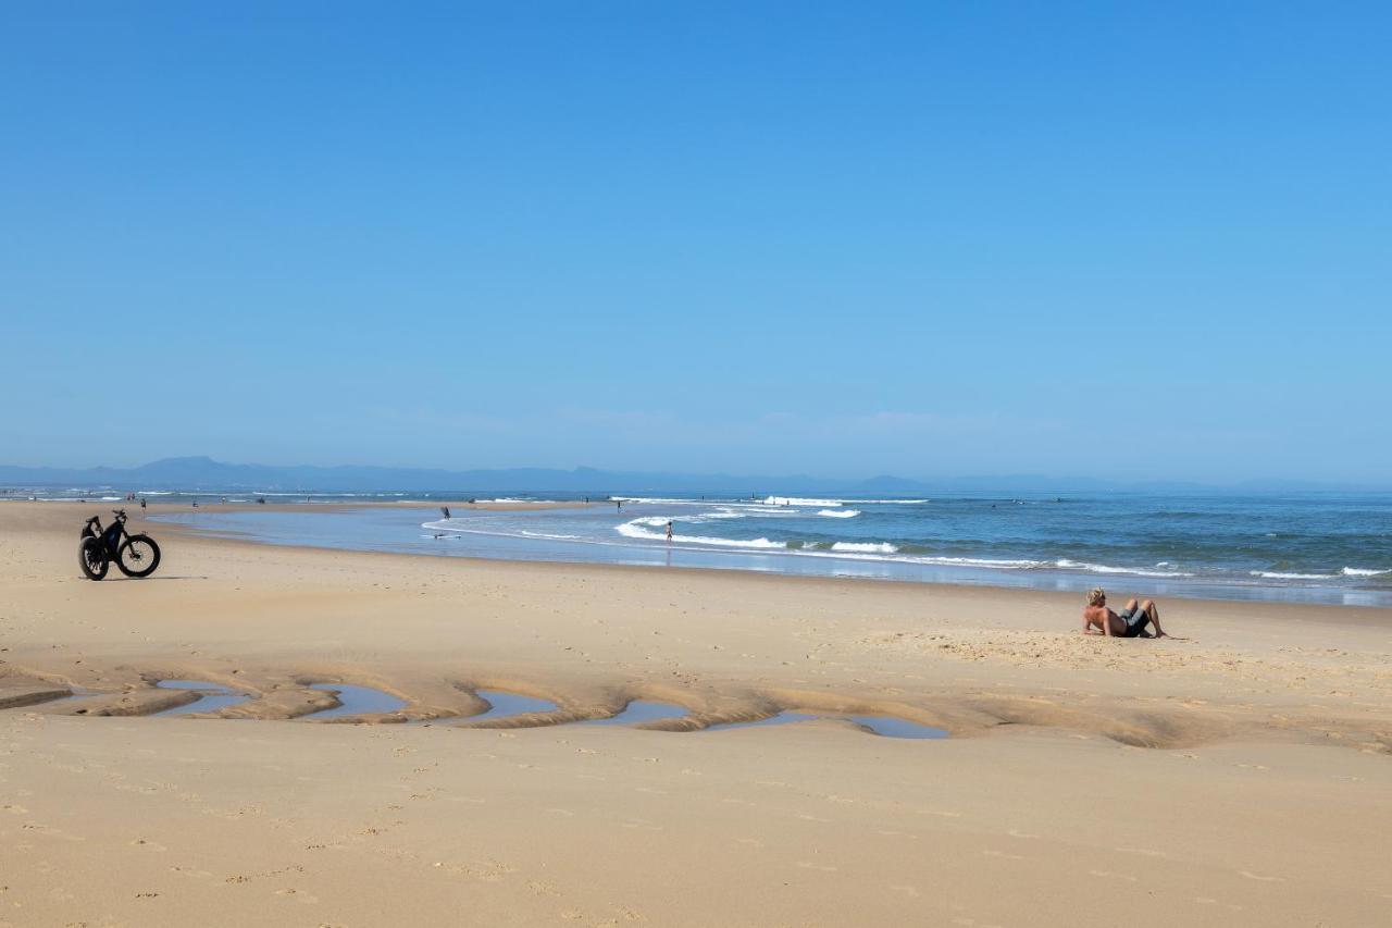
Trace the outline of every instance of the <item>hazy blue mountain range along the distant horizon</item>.
{"label": "hazy blue mountain range along the distant horizon", "polygon": [[1043,477],[1018,474],[1008,477],[959,477],[917,481],[902,477],[873,477],[862,481],[795,475],[667,474],[647,471],[601,471],[592,467],[548,470],[536,467],[508,470],[447,471],[402,467],[274,467],[266,464],[226,464],[210,457],[168,457],[139,467],[15,467],[0,465],[0,486],[110,486],[116,490],[280,490],[280,492],[384,492],[384,490],[511,490],[572,493],[883,493],[905,496],[933,492],[986,490],[999,493],[1107,492],[1141,490],[1183,493],[1226,492],[1299,492],[1321,489],[1371,489],[1296,481],[1263,481],[1231,486],[1205,486],[1183,482],[1122,484],[1086,477]]}

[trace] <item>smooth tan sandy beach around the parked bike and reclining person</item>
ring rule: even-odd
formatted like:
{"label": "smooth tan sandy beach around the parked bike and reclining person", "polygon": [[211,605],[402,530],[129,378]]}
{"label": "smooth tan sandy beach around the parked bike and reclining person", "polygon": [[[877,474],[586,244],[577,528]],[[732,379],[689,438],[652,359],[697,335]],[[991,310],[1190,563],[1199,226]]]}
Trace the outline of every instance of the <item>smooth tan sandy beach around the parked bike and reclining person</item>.
{"label": "smooth tan sandy beach around the parked bike and reclining person", "polygon": [[[139,518],[155,577],[90,582],[77,535],[106,509],[0,503],[0,928],[1392,917],[1392,610],[1176,599],[1187,640],[1102,640],[1075,594]],[[139,718],[191,701],[170,679],[253,698]],[[406,705],[296,720],[333,683]],[[476,690],[557,709],[470,725]],[[631,699],[689,712],[576,723]],[[702,730],[780,711],[951,737]]]}

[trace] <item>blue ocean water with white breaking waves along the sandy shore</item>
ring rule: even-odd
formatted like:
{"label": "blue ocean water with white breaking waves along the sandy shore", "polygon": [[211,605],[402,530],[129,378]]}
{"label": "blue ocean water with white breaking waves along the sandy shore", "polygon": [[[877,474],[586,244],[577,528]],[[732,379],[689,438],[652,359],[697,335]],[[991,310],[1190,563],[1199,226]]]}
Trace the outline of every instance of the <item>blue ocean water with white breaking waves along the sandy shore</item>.
{"label": "blue ocean water with white breaking waves along the sandy shore", "polygon": [[672,495],[451,518],[309,506],[160,518],[359,550],[1392,606],[1392,493]]}

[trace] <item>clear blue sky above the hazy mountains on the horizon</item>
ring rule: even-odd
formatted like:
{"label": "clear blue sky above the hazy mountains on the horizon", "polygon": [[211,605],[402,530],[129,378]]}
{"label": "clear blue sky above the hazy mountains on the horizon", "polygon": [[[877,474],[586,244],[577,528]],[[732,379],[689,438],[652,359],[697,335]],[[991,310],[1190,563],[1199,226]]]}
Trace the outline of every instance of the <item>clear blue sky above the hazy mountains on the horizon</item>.
{"label": "clear blue sky above the hazy mountains on the horizon", "polygon": [[0,463],[1392,484],[1386,3],[0,4]]}

